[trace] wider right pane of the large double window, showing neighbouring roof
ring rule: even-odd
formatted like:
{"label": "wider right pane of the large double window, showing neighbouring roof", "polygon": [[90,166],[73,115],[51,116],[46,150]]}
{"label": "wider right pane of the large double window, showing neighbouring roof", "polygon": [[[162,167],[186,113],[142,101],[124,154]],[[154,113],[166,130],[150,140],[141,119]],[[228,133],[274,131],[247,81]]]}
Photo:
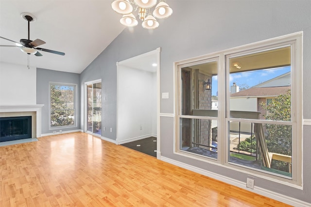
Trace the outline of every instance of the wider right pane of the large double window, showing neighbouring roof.
{"label": "wider right pane of the large double window, showing neighbouring roof", "polygon": [[291,178],[291,46],[232,54],[227,62],[229,162]]}

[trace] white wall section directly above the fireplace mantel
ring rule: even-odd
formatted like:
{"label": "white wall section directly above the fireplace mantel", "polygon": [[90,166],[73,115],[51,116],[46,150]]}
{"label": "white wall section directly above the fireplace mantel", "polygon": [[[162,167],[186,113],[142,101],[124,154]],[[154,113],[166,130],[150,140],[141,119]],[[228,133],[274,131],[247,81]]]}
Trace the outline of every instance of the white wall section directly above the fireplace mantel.
{"label": "white wall section directly above the fireplace mantel", "polygon": [[0,105],[36,104],[36,68],[0,62]]}

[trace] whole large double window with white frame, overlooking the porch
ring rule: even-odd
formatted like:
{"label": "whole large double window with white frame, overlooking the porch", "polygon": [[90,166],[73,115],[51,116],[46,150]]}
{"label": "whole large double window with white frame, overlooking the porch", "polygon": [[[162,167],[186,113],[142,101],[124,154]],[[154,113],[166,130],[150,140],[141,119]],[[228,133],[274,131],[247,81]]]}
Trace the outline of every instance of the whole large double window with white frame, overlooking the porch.
{"label": "whole large double window with white frame, overlooking the porch", "polygon": [[302,33],[175,63],[175,153],[301,185]]}

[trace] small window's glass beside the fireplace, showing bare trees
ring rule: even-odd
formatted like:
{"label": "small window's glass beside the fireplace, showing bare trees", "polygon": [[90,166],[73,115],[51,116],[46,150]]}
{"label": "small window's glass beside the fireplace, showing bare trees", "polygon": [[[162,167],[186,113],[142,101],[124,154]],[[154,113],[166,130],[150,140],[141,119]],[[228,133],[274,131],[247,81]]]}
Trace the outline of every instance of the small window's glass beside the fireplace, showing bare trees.
{"label": "small window's glass beside the fireplace, showing bare trees", "polygon": [[50,129],[76,126],[76,87],[50,82]]}

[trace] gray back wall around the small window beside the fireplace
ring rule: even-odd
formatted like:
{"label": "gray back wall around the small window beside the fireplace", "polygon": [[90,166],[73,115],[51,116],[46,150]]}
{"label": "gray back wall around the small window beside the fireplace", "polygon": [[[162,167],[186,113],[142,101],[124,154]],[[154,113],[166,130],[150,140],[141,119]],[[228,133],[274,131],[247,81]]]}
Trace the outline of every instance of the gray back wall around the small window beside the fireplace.
{"label": "gray back wall around the small window beside the fireplace", "polygon": [[[41,116],[41,133],[47,134],[52,133],[53,131],[59,132],[68,130],[80,129],[80,95],[81,91],[79,88],[79,74],[77,73],[67,73],[60,72],[55,70],[47,70],[42,68],[37,68],[37,104],[44,104],[42,107],[42,116]],[[49,82],[61,82],[61,83],[73,83],[77,84],[77,127],[65,127],[57,128],[57,130],[49,130]]]}

